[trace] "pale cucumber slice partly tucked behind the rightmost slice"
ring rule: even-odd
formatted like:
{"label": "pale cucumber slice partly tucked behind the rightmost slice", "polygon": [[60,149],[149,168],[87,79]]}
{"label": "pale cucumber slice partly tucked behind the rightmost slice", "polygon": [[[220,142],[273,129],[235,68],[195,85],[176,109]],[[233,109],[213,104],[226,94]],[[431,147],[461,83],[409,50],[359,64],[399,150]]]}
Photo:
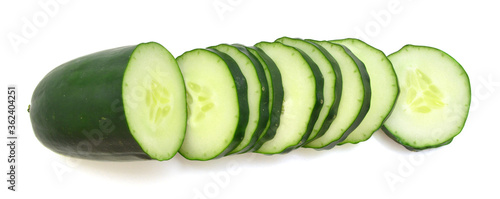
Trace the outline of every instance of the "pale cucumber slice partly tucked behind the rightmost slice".
{"label": "pale cucumber slice partly tucked behind the rightmost slice", "polygon": [[340,143],[356,144],[368,140],[391,114],[399,94],[398,79],[391,62],[382,51],[359,39],[342,39],[331,42],[347,46],[365,64],[370,76],[370,110],[358,128]]}

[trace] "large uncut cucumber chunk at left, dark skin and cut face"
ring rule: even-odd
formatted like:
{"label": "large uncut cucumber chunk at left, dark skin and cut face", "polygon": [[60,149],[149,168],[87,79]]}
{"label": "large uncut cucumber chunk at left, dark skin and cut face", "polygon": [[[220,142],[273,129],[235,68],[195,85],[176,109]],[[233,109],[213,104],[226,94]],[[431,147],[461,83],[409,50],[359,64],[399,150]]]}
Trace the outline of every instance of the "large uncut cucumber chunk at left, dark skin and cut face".
{"label": "large uncut cucumber chunk at left, dark skin and cut face", "polygon": [[47,148],[110,161],[172,158],[187,118],[177,62],[153,42],[62,64],[35,88],[29,111]]}

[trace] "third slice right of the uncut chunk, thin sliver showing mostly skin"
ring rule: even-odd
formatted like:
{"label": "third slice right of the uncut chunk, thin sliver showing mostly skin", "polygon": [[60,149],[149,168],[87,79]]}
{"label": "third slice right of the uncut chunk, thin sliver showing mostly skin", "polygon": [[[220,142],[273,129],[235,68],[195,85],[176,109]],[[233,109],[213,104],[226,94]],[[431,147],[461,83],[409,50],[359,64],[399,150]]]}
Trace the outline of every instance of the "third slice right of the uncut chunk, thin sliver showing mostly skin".
{"label": "third slice right of the uncut chunk, thin sliver showing mostly skin", "polygon": [[257,60],[259,60],[259,62],[261,63],[262,68],[264,69],[264,73],[266,74],[269,91],[269,119],[267,121],[265,130],[262,132],[253,148],[249,150],[253,152],[259,149],[268,140],[273,139],[276,135],[276,130],[278,129],[278,126],[280,124],[281,107],[283,105],[284,92],[281,73],[274,61],[259,48],[256,48],[254,46],[245,48],[246,50],[248,50],[248,52],[252,53],[252,55],[254,55],[255,58],[257,58]]}

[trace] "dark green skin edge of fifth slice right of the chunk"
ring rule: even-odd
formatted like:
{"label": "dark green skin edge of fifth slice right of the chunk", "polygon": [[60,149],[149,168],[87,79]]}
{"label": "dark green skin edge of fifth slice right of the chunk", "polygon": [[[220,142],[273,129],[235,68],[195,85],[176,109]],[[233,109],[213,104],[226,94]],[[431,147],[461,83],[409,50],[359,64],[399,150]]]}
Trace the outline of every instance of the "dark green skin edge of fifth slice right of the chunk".
{"label": "dark green skin edge of fifth slice right of the chunk", "polygon": [[[342,95],[342,74],[340,72],[339,63],[337,63],[337,60],[335,60],[335,58],[332,55],[330,55],[330,53],[328,53],[328,51],[326,51],[326,49],[324,49],[323,47],[321,47],[318,44],[315,44],[314,42],[299,39],[299,38],[288,38],[288,37],[282,37],[280,39],[301,40],[301,41],[307,42],[307,43],[313,45],[321,53],[323,53],[325,55],[326,59],[328,60],[328,62],[332,65],[332,69],[333,69],[333,72],[335,75],[335,92],[333,94],[335,100],[334,100],[332,106],[330,107],[330,110],[328,111],[328,115],[325,117],[325,121],[323,122],[323,125],[321,126],[320,130],[318,131],[318,133],[315,136],[315,138],[321,137],[330,128],[330,125],[332,124],[335,117],[337,117],[337,111],[338,111],[339,104],[340,104],[339,99]],[[276,41],[279,41],[280,39],[277,39]],[[309,141],[306,141],[305,144],[312,142],[313,140],[314,140],[314,138],[310,139]]]}

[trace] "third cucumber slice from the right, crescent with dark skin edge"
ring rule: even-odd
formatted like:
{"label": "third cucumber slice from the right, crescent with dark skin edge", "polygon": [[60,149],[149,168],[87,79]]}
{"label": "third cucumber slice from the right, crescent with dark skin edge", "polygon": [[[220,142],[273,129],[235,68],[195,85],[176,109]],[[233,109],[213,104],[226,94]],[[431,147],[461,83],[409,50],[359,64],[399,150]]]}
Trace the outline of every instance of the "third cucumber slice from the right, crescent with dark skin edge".
{"label": "third cucumber slice from the right, crescent with dark skin edge", "polygon": [[370,77],[365,65],[345,46],[327,41],[313,41],[337,60],[342,73],[342,95],[337,117],[326,133],[305,145],[307,148],[330,149],[343,141],[361,121],[370,108]]}

